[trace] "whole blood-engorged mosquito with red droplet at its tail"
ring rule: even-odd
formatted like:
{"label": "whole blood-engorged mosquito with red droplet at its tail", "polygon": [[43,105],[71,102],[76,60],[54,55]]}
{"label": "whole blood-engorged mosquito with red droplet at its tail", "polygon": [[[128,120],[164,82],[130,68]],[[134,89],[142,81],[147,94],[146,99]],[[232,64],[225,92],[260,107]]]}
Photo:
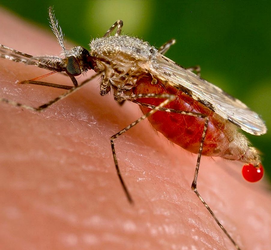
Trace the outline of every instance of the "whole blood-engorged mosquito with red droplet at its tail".
{"label": "whole blood-engorged mosquito with red droplet at its tail", "polygon": [[[140,39],[123,35],[123,22],[118,20],[103,37],[90,42],[90,51],[81,46],[68,50],[65,48],[64,35],[52,7],[49,8],[49,20],[62,48],[59,57],[34,57],[0,45],[0,58],[51,71],[21,83],[68,91],[39,107],[23,105],[5,98],[0,100],[32,111],[43,111],[78,91],[95,77],[101,76],[101,96],[113,90],[114,99],[118,103],[129,100],[140,105],[143,112],[143,116],[110,137],[116,171],[128,201],[131,204],[134,202],[119,170],[114,141],[147,118],[168,140],[198,154],[191,188],[236,249],[240,249],[197,191],[200,158],[201,155],[220,156],[244,162],[242,172],[245,179],[251,182],[260,180],[263,176],[260,153],[250,146],[248,139],[238,128],[254,135],[265,134],[267,129],[263,120],[240,100],[200,78],[199,68],[184,69],[165,57],[164,54],[175,43],[174,39],[156,49]],[[75,77],[89,69],[93,69],[96,74],[78,85]],[[197,74],[193,71],[197,71]],[[74,86],[37,81],[57,72],[68,75]]]}

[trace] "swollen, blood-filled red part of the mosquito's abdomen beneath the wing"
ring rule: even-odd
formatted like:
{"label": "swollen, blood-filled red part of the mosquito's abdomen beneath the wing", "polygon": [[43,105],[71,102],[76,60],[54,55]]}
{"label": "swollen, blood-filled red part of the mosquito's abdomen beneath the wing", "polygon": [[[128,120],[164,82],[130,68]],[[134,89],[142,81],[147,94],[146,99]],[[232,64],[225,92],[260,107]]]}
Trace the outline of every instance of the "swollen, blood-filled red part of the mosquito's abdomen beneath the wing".
{"label": "swollen, blood-filled red part of the mosquito's abdomen beneath the wing", "polygon": [[[207,156],[224,156],[229,145],[227,129],[225,130],[227,121],[225,119],[169,84],[162,85],[161,82],[158,81],[157,84],[152,85],[149,77],[139,79],[137,84],[138,85],[133,88],[134,94],[175,94],[176,99],[169,103],[166,106],[167,108],[208,115],[209,123],[202,154]],[[140,98],[138,101],[157,106],[163,99]],[[150,111],[149,108],[143,106],[140,106],[140,109],[144,114]],[[149,116],[148,119],[152,126],[171,142],[192,153],[199,152],[205,122],[204,118],[157,111],[152,116]]]}

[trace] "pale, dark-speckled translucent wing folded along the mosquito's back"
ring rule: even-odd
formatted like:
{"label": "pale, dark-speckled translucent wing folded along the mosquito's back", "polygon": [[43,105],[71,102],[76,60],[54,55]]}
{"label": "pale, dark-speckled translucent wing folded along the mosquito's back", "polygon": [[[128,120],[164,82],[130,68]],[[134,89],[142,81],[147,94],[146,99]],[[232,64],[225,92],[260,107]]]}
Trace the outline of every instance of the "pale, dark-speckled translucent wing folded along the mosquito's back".
{"label": "pale, dark-speckled translucent wing folded along the mosquito's back", "polygon": [[155,53],[149,70],[156,78],[169,82],[242,130],[254,135],[266,133],[263,120],[244,103],[162,54]]}

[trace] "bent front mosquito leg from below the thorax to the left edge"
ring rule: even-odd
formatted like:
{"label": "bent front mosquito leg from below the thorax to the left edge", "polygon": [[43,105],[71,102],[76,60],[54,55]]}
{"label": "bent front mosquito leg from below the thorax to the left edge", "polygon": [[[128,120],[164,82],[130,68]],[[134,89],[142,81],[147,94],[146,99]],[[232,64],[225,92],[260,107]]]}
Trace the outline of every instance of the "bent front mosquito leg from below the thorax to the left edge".
{"label": "bent front mosquito leg from below the thorax to the left edge", "polygon": [[1,98],[1,97],[0,97],[0,101],[5,102],[5,103],[8,103],[8,104],[10,104],[10,105],[12,105],[12,106],[23,107],[23,108],[25,108],[25,109],[32,110],[32,111],[43,111],[43,110],[45,110],[46,108],[48,108],[48,107],[50,107],[51,105],[53,105],[54,103],[56,103],[56,102],[58,102],[58,101],[64,99],[65,97],[71,95],[73,92],[79,90],[79,89],[82,88],[84,85],[86,85],[89,81],[91,81],[92,79],[94,79],[96,76],[101,75],[101,73],[103,73],[103,71],[100,72],[100,73],[98,73],[98,74],[95,74],[95,75],[91,76],[89,79],[86,79],[85,81],[83,81],[83,82],[81,83],[81,85],[72,87],[72,88],[69,89],[66,93],[64,93],[64,94],[62,94],[62,95],[56,97],[55,99],[49,101],[48,103],[45,103],[45,104],[43,104],[43,105],[41,105],[41,106],[38,106],[37,108],[32,107],[32,106],[28,106],[28,105],[24,105],[24,104],[22,104],[22,103],[14,102],[14,101],[8,100],[8,99],[6,99],[6,98]]}

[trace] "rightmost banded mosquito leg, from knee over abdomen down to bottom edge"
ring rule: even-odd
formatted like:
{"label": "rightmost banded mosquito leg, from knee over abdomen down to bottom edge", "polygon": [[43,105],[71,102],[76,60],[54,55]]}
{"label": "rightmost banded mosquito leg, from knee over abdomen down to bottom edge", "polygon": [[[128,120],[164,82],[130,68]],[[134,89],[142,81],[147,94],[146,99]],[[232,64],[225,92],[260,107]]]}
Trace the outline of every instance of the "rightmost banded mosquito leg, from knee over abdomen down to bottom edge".
{"label": "rightmost banded mosquito leg, from knee over abdomen down to bottom edge", "polygon": [[202,132],[201,142],[200,142],[200,150],[199,150],[198,157],[197,157],[197,165],[196,165],[196,169],[195,169],[194,180],[192,182],[191,188],[194,191],[194,193],[197,195],[197,197],[200,199],[200,201],[203,203],[203,205],[207,208],[207,210],[212,215],[212,217],[215,219],[215,222],[218,224],[218,226],[222,229],[222,231],[227,235],[227,237],[230,239],[230,241],[234,244],[234,246],[236,247],[236,249],[241,250],[241,248],[237,245],[237,243],[229,235],[229,233],[227,232],[227,230],[218,221],[218,219],[216,218],[214,212],[211,210],[211,208],[209,207],[209,205],[207,205],[207,203],[201,197],[200,193],[197,191],[197,176],[198,176],[198,171],[199,171],[199,167],[200,167],[200,158],[201,158],[201,153],[202,153],[202,149],[203,149],[203,143],[204,143],[204,139],[205,139],[205,136],[206,136],[207,127],[208,127],[208,121],[209,121],[209,117],[206,117],[205,118],[205,124],[204,124],[204,128],[203,128],[203,132]]}

